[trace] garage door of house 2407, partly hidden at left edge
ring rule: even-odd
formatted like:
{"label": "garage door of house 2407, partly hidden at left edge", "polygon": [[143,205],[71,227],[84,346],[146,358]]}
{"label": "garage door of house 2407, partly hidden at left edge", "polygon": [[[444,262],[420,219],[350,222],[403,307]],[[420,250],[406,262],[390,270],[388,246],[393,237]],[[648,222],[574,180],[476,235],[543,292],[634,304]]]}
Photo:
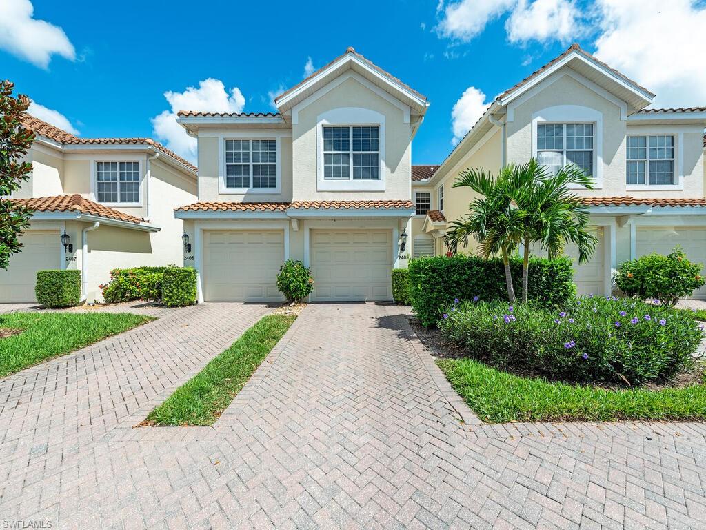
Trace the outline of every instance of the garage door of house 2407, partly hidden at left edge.
{"label": "garage door of house 2407, partly hidden at left edge", "polygon": [[59,232],[29,230],[20,238],[22,252],[0,270],[0,302],[36,302],[37,271],[59,269]]}

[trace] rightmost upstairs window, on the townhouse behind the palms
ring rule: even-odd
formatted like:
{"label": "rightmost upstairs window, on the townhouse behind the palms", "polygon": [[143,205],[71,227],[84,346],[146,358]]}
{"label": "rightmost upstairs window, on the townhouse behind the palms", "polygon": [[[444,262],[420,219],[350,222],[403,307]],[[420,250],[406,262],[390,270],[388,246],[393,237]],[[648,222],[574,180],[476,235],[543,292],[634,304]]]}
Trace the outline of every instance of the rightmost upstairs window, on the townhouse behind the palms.
{"label": "rightmost upstairs window, on the townhouse behind the palms", "polygon": [[674,179],[674,136],[628,136],[626,184],[671,186]]}

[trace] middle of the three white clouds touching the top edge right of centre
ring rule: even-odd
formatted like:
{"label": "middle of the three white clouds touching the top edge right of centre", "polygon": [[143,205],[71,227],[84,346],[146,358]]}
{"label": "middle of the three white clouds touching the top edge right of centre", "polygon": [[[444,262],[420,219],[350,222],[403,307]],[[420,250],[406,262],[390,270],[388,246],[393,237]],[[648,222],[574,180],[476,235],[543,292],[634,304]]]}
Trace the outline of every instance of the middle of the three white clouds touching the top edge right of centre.
{"label": "middle of the three white clouds touching the top edge right of centre", "polygon": [[566,43],[580,33],[580,11],[571,0],[520,0],[505,22],[510,42],[558,40]]}

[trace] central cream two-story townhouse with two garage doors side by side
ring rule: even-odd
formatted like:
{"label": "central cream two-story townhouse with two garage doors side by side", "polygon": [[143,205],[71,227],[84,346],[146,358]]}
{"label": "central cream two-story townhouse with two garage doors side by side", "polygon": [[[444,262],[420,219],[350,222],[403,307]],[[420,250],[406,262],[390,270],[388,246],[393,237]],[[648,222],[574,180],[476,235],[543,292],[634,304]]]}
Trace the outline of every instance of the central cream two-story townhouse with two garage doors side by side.
{"label": "central cream two-story townhouse with two garage doors side by side", "polygon": [[312,300],[390,300],[390,269],[408,253],[426,98],[348,48],[275,105],[179,112],[198,138],[198,202],[175,215],[199,300],[281,300],[285,259],[311,266]]}

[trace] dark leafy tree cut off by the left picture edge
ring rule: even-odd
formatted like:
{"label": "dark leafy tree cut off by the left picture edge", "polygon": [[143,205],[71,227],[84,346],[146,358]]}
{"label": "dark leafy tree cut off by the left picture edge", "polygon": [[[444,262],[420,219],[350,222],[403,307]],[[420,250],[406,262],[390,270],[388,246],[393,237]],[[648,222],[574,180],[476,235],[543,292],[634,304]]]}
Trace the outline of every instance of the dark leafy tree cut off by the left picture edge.
{"label": "dark leafy tree cut off by the left picture edge", "polygon": [[0,269],[6,270],[12,254],[20,252],[18,236],[30,225],[32,209],[3,196],[20,189],[32,171],[32,164],[20,162],[35,140],[35,134],[20,122],[30,106],[26,95],[14,98],[15,83],[0,81]]}

